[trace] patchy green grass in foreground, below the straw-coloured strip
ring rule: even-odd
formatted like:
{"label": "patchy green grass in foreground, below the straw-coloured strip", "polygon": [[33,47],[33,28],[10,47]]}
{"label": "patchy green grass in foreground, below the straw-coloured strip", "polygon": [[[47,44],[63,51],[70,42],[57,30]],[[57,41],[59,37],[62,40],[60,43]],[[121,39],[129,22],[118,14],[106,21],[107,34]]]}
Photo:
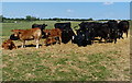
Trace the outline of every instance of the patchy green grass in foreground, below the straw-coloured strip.
{"label": "patchy green grass in foreground, below the straw-coloured strip", "polygon": [[[109,66],[101,62],[113,62],[114,59],[106,56],[114,51],[95,55],[70,52],[58,55],[58,58],[50,52],[40,52],[18,50],[14,56],[3,55],[3,81],[103,81],[112,74]],[[87,60],[81,61],[79,57]]]}

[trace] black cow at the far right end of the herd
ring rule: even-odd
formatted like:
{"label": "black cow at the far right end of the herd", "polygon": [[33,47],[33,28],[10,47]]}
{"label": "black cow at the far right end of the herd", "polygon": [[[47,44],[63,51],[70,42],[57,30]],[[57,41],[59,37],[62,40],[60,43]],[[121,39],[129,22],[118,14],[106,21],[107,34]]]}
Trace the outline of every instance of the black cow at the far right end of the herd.
{"label": "black cow at the far right end of the herd", "polygon": [[[129,31],[129,21],[121,21],[118,24],[118,27],[120,29],[120,32],[125,33],[127,37],[128,37],[128,31]],[[123,35],[123,34],[122,34]]]}

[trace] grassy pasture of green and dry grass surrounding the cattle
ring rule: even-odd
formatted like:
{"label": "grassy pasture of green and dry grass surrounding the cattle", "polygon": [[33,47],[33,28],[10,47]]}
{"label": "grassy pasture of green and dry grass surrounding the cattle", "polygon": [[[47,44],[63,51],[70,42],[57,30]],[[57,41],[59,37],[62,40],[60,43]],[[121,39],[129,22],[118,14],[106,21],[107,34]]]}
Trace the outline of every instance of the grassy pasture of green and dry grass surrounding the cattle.
{"label": "grassy pasture of green and dry grass surrounding the cattle", "polygon": [[[11,29],[31,28],[33,23],[45,23],[53,28],[55,21],[2,24],[2,40]],[[80,22],[72,22],[72,27]],[[130,33],[113,43],[98,43],[87,47],[76,44],[56,44],[36,49],[33,40],[26,48],[2,50],[3,81],[130,81]],[[21,42],[14,42],[21,46]]]}

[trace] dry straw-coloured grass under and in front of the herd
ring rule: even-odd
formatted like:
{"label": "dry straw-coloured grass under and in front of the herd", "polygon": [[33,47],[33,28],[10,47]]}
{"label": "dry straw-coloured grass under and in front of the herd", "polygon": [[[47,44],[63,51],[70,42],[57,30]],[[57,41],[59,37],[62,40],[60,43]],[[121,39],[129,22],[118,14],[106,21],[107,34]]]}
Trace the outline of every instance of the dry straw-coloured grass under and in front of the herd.
{"label": "dry straw-coloured grass under and in front of the herd", "polygon": [[[112,57],[114,59],[111,62],[107,61],[100,61],[100,64],[105,66],[108,70],[112,71],[112,75],[107,78],[107,81],[129,81],[130,80],[130,35],[127,38],[124,35],[124,39],[120,39],[117,42],[117,44],[111,43],[95,43],[94,45],[89,45],[87,47],[78,47],[75,44],[72,44],[70,42],[68,44],[56,44],[53,46],[44,46],[43,39],[41,40],[41,47],[36,49],[35,47],[26,47],[26,48],[18,48],[13,50],[2,50],[2,55],[15,57],[19,54],[24,54],[25,56],[31,55],[34,51],[38,52],[38,57],[43,57],[44,54],[51,54],[52,61],[55,62],[58,59],[70,59],[72,56],[65,56],[74,54],[74,57],[77,58],[77,60],[81,62],[89,62],[90,60],[85,57],[84,55],[92,56],[95,54],[103,54],[105,57]],[[16,46],[21,45],[21,42],[14,42]],[[26,45],[34,45],[35,43],[33,40],[26,42]],[[18,52],[19,51],[19,52]],[[112,52],[112,54],[111,54]],[[79,56],[78,56],[79,55]],[[53,64],[46,59],[43,59],[41,64],[44,64],[46,67],[50,67],[51,69],[51,75],[55,74],[55,71],[62,67],[58,71],[61,72],[72,72],[69,69],[73,69],[81,74],[85,74],[86,72],[89,72],[89,70],[84,70],[78,68],[76,64],[72,66],[73,61],[66,61],[66,64]],[[3,62],[3,67],[7,67],[7,62]],[[14,69],[18,70],[18,69]],[[35,70],[35,69],[34,69]],[[90,73],[89,73],[90,74]],[[35,78],[34,74],[26,73],[28,78]],[[91,75],[92,76],[92,75]],[[57,78],[61,79],[59,76]],[[76,80],[76,79],[75,79]],[[96,78],[95,78],[96,80]]]}

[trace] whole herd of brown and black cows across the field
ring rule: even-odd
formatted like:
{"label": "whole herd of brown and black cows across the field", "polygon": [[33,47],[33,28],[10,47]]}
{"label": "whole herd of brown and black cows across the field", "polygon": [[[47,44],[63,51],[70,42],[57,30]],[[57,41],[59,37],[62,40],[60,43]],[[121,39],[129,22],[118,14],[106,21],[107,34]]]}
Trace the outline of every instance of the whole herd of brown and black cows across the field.
{"label": "whole herd of brown and black cows across the field", "polygon": [[[2,47],[4,49],[16,48],[12,40],[21,40],[22,48],[25,47],[25,40],[34,39],[36,42],[36,48],[38,48],[38,42],[41,38],[45,38],[46,45],[53,44],[67,44],[72,40],[73,44],[78,46],[87,46],[94,44],[94,40],[101,42],[105,39],[105,43],[117,43],[117,39],[123,39],[123,33],[127,34],[129,31],[129,22],[114,20],[108,21],[105,23],[100,22],[81,22],[77,26],[76,34],[70,27],[70,22],[68,23],[56,23],[55,28],[45,29],[46,24],[33,24],[30,29],[12,29],[10,39],[3,42]],[[76,26],[76,27],[77,27]],[[75,28],[75,27],[74,27]]]}

